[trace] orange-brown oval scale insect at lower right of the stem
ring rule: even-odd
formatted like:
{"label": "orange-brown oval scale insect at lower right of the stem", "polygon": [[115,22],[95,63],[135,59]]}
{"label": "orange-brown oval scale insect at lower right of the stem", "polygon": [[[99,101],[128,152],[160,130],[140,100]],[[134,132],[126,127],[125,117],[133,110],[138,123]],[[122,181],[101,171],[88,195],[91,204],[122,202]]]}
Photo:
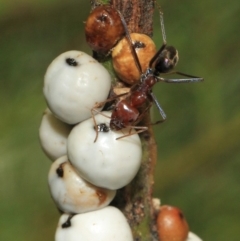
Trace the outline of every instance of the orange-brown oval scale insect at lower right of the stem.
{"label": "orange-brown oval scale insect at lower right of the stem", "polygon": [[161,241],[186,241],[189,227],[180,209],[165,205],[158,213],[157,230]]}

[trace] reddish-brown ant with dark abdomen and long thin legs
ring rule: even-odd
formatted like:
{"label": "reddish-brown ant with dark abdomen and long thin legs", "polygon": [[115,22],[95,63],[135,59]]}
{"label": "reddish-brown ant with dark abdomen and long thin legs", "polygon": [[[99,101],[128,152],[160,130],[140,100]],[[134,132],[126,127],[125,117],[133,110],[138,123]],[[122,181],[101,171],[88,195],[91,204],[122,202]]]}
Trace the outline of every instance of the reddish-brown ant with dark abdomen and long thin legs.
{"label": "reddish-brown ant with dark abdomen and long thin legs", "polygon": [[[119,12],[119,11],[118,11]],[[106,102],[112,101],[117,99],[120,96],[126,95],[125,99],[120,99],[113,107],[111,120],[110,120],[110,129],[111,130],[121,130],[123,128],[130,128],[130,131],[127,135],[123,135],[117,139],[121,139],[126,136],[130,136],[136,133],[144,132],[148,129],[146,126],[136,126],[145,116],[147,111],[150,109],[152,103],[155,103],[162,120],[157,121],[154,124],[158,124],[164,122],[167,118],[164,110],[162,109],[161,105],[159,104],[157,98],[152,92],[153,86],[158,82],[165,82],[165,83],[193,83],[193,82],[200,82],[203,81],[203,78],[196,77],[188,74],[184,74],[178,71],[173,71],[174,67],[178,62],[178,51],[173,46],[167,46],[166,41],[166,34],[164,28],[164,21],[163,21],[163,13],[160,11],[160,24],[161,24],[161,31],[163,37],[163,44],[160,49],[156,52],[156,54],[152,57],[149,62],[149,66],[145,73],[143,73],[140,61],[138,59],[135,44],[133,43],[130,33],[127,28],[127,24],[119,12],[119,16],[121,18],[122,24],[125,29],[125,34],[127,41],[129,42],[129,46],[131,48],[131,52],[134,57],[134,61],[136,67],[141,75],[140,80],[137,84],[133,85],[130,88],[130,91],[126,94],[117,95],[114,98],[109,98],[107,101],[101,103],[105,104]],[[161,74],[178,74],[181,76],[185,76],[186,78],[180,79],[168,79],[160,77]],[[145,109],[143,110],[143,107]],[[94,120],[95,122],[95,120]],[[94,142],[97,140],[98,137],[98,127],[95,123],[96,129],[96,138]],[[131,133],[132,129],[136,129],[136,132]]]}

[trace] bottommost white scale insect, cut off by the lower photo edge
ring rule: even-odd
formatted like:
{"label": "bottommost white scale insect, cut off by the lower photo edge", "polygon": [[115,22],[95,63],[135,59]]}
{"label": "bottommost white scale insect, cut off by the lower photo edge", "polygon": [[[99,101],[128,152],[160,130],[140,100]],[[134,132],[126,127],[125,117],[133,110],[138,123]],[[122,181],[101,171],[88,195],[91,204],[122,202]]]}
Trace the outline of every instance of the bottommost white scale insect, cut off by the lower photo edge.
{"label": "bottommost white scale insect, cut off by the lower photo edge", "polygon": [[129,224],[115,207],[60,217],[55,241],[133,241]]}

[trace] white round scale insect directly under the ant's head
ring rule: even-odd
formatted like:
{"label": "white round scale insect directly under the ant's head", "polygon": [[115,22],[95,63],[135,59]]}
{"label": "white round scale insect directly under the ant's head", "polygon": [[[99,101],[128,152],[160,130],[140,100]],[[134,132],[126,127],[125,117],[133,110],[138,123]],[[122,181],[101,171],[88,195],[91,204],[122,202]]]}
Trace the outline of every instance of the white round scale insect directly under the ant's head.
{"label": "white round scale insect directly under the ant's head", "polygon": [[[109,127],[111,112],[95,116],[97,125]],[[99,128],[97,141],[93,118],[76,125],[68,136],[67,152],[72,165],[90,183],[112,190],[132,181],[137,174],[142,158],[141,141],[138,134],[119,140],[129,129],[112,131]],[[132,130],[134,132],[134,130]]]}

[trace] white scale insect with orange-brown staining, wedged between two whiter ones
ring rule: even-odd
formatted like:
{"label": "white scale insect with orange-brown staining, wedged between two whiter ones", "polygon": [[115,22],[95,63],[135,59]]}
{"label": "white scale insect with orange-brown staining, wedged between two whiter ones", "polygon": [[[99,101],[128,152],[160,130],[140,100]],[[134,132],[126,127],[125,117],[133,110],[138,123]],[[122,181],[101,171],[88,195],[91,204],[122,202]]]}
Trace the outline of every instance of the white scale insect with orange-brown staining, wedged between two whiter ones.
{"label": "white scale insect with orange-brown staining, wedged between two whiter ones", "polygon": [[57,207],[64,213],[84,213],[107,206],[116,191],[96,187],[82,179],[67,156],[53,162],[48,184]]}

